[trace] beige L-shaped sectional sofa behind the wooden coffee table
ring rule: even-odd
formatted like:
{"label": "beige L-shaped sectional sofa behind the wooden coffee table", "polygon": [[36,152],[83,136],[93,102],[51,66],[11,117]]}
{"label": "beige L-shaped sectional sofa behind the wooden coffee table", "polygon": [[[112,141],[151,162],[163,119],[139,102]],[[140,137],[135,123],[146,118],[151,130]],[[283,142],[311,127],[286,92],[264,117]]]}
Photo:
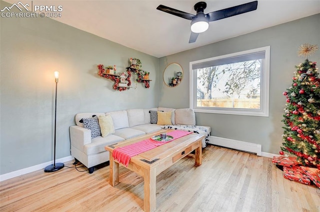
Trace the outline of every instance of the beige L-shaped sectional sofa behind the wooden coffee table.
{"label": "beige L-shaped sectional sofa behind the wooden coffee table", "polygon": [[[157,114],[157,111],[160,111],[159,114],[161,116],[161,112],[170,115],[170,117],[166,117],[164,124],[161,121],[161,117],[157,121],[154,120],[155,117],[152,115]],[[103,132],[99,134],[100,131],[104,131],[105,128],[103,126],[96,129],[92,128],[92,125],[96,127],[97,122],[99,123],[97,120],[100,120],[99,125],[101,125],[102,121],[100,118],[105,118],[105,116],[111,117],[109,118],[109,125],[113,124],[113,126],[107,126],[107,128],[111,127],[112,129],[111,131],[108,129],[109,132],[103,135]],[[91,123],[92,120],[95,122],[94,124]],[[162,122],[162,124],[159,122]],[[75,123],[76,125],[69,128],[71,155],[75,160],[80,161],[86,166],[89,173],[93,172],[94,166],[109,161],[109,152],[104,150],[104,147],[107,145],[154,133],[162,129],[179,129],[206,135],[202,141],[202,148],[204,148],[209,141],[211,132],[210,127],[195,125],[194,111],[189,108],[173,109],[158,107],[127,109],[106,113],[78,113],[75,115]],[[93,132],[96,134],[92,135]]]}

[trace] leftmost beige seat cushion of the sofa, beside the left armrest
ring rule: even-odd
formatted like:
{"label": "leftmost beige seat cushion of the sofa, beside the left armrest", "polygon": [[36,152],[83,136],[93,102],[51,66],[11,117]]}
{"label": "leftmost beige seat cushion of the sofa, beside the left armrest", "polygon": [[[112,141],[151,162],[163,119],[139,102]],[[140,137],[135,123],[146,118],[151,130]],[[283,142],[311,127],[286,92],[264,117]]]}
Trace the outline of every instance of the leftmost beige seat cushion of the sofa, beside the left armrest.
{"label": "leftmost beige seat cushion of the sofa, beside the left armrest", "polygon": [[97,136],[96,138],[93,138],[91,140],[91,143],[84,145],[83,150],[87,155],[105,152],[105,146],[115,144],[120,141],[124,141],[124,139],[112,134],[104,138],[102,138],[101,136]]}

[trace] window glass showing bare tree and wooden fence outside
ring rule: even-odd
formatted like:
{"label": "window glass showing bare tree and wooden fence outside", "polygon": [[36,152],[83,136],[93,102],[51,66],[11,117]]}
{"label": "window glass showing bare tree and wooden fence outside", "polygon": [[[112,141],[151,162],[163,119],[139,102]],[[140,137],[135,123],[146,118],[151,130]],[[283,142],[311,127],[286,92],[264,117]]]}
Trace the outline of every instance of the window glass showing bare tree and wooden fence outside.
{"label": "window glass showing bare tree and wooden fence outside", "polygon": [[197,106],[260,108],[261,60],[196,69]]}

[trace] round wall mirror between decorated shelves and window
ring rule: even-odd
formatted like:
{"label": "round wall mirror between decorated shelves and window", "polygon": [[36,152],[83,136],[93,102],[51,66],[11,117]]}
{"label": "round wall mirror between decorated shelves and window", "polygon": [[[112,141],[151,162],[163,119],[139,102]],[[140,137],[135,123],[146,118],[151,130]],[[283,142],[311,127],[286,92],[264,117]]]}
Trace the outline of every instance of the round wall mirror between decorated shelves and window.
{"label": "round wall mirror between decorated shelves and window", "polygon": [[169,87],[178,86],[183,78],[183,69],[178,63],[168,64],[163,72],[163,82]]}

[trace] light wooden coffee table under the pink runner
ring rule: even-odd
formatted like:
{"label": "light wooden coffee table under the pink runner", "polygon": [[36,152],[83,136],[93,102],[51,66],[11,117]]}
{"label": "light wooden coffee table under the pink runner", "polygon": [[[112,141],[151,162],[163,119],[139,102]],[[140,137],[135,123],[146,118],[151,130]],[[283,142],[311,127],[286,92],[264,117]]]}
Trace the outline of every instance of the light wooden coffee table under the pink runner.
{"label": "light wooden coffee table under the pink runner", "polygon": [[[160,132],[170,132],[172,130],[163,130]],[[160,132],[147,134],[134,139],[129,139],[110,146],[105,150],[110,152],[110,178],[109,183],[112,187],[119,183],[119,163],[112,158],[112,152],[117,147],[123,147],[158,135]],[[201,165],[202,146],[201,140],[204,135],[191,133],[171,142],[158,146],[147,152],[131,157],[127,169],[141,175],[144,179],[144,211],[154,212],[156,207],[155,183],[156,176],[175,164],[181,158],[184,158],[190,152],[195,150],[195,166]]]}

